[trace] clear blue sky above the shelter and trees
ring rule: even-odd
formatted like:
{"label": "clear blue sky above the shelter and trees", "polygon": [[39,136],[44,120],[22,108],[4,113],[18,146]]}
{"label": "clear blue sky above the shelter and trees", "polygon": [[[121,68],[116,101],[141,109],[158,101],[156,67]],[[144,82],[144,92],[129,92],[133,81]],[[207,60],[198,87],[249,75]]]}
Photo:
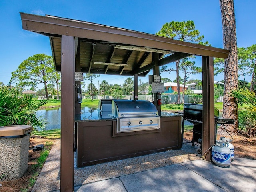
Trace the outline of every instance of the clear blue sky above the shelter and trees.
{"label": "clear blue sky above the shelter and trees", "polygon": [[[238,47],[256,44],[256,1],[234,0],[234,5]],[[11,73],[28,57],[40,53],[52,55],[49,38],[23,30],[19,12],[84,20],[150,34],[158,32],[166,22],[192,20],[204,40],[223,48],[219,0],[1,0],[0,82],[4,84],[8,84]],[[200,60],[196,62],[201,65]],[[171,80],[176,78],[174,73],[161,75]],[[98,80],[123,84],[126,78],[101,75],[94,84],[98,87]],[[190,78],[201,79],[201,75]],[[147,77],[140,79],[148,82]],[[214,80],[222,79],[223,75],[214,77]]]}

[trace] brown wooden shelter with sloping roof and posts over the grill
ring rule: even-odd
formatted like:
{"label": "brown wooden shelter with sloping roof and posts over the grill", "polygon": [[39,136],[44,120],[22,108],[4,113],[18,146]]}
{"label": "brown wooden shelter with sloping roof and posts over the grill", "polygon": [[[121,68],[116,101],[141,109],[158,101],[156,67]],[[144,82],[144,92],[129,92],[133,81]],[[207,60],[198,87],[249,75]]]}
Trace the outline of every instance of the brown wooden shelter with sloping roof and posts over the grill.
{"label": "brown wooden shelter with sloping roof and posts over the grill", "polygon": [[[80,111],[74,102],[75,84],[79,84],[75,72],[134,76],[136,99],[138,76],[146,76],[152,69],[159,75],[160,66],[191,55],[202,56],[202,153],[214,145],[213,57],[227,58],[228,50],[80,20],[20,15],[24,30],[49,36],[55,69],[61,71],[61,191],[73,191],[74,183],[74,115]],[[210,154],[206,159],[210,160]]]}

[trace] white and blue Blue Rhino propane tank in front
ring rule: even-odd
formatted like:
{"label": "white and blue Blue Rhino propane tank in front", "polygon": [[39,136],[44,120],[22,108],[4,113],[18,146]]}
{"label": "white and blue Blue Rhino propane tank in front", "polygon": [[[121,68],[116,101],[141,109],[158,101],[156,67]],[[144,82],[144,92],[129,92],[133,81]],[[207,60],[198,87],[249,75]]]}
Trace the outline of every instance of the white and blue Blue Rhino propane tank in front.
{"label": "white and blue Blue Rhino propane tank in front", "polygon": [[228,167],[231,163],[231,150],[225,147],[221,140],[216,141],[216,145],[212,147],[212,161],[220,167]]}

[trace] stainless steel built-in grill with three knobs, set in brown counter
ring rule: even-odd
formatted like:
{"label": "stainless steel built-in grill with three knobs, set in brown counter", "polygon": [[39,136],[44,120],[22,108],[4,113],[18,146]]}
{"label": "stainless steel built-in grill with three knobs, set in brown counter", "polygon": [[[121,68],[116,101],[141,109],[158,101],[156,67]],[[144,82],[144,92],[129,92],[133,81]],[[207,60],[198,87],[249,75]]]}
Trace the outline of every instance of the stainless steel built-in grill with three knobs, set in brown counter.
{"label": "stainless steel built-in grill with three knobs, set in brown counter", "polygon": [[110,115],[117,119],[117,133],[160,128],[158,111],[146,100],[112,100]]}

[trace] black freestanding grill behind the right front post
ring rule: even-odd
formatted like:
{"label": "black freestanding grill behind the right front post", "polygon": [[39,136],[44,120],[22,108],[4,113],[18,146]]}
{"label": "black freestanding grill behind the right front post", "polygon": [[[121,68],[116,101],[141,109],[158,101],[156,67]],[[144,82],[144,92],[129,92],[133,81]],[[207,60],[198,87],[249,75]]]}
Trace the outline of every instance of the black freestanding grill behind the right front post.
{"label": "black freestanding grill behind the right front post", "polygon": [[[214,108],[214,116],[215,116],[215,142],[216,142],[216,134],[217,134],[217,125],[218,124],[234,124],[233,119],[228,118],[220,118],[219,110]],[[202,104],[191,104],[184,103],[183,108],[183,123],[182,123],[182,140],[184,134],[184,121],[193,124],[193,138],[191,140],[192,145],[194,142],[201,144],[202,143],[202,130],[203,130],[203,105]],[[202,146],[201,146],[202,150]]]}

